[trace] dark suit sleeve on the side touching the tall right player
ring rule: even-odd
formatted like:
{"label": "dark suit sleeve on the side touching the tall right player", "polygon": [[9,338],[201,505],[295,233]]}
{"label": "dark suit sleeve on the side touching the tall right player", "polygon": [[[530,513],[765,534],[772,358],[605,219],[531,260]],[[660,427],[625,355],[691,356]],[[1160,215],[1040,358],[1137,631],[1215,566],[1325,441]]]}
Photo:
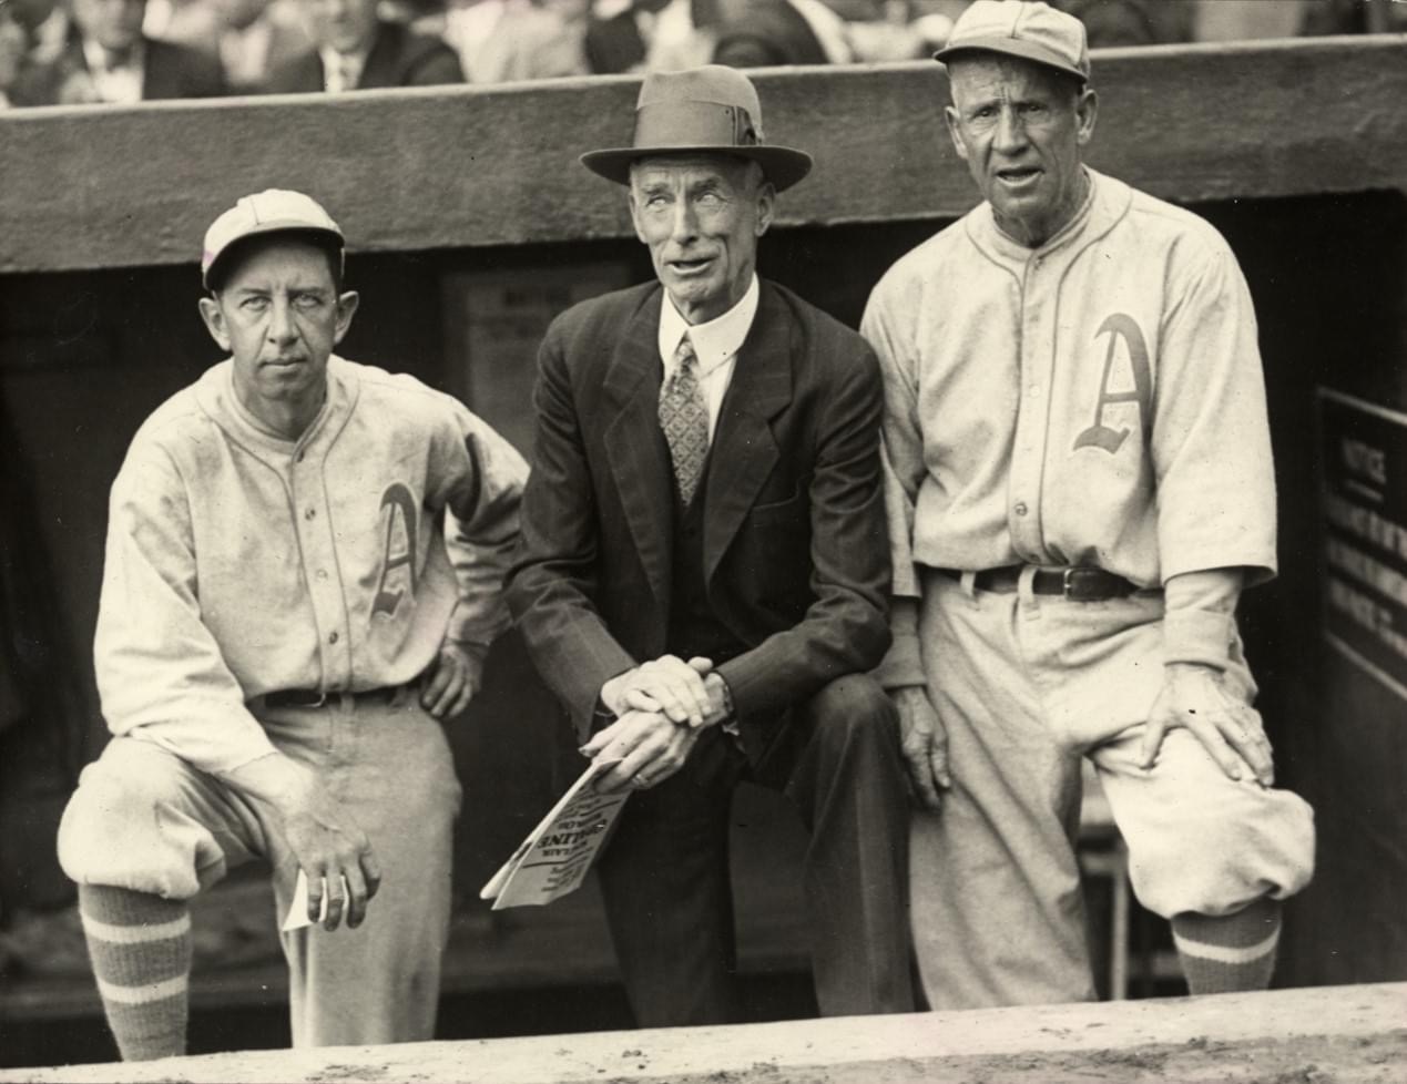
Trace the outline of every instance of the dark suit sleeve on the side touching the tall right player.
{"label": "dark suit sleeve on the side touching the tall right player", "polygon": [[[810,589],[795,627],[719,666],[737,714],[767,714],[878,665],[889,647],[889,543],[879,467],[882,392],[858,339],[819,394],[810,479]],[[785,558],[784,558],[785,560]]]}

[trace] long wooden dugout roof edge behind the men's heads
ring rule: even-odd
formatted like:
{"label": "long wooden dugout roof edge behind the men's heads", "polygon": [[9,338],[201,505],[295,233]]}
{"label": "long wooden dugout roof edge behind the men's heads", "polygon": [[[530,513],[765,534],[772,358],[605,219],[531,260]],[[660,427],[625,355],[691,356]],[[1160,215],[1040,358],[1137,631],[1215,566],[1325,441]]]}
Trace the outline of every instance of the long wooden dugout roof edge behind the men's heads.
{"label": "long wooden dugout roof edge behind the men's heads", "polygon": [[[975,200],[931,62],[756,73],[772,142],[816,157],[779,225],[943,218]],[[0,274],[193,263],[239,195],[322,200],[353,252],[630,233],[575,156],[629,139],[639,80],[0,112]],[[1090,163],[1179,202],[1407,191],[1407,37],[1095,53]]]}

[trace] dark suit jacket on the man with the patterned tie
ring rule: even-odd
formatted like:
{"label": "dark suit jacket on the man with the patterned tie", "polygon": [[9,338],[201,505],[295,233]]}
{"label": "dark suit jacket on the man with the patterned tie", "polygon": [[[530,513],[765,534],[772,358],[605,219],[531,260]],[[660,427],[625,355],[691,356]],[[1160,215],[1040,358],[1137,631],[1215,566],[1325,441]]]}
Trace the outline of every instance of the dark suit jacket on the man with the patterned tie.
{"label": "dark suit jacket on the man with the patterned tie", "polygon": [[[582,302],[539,353],[537,437],[508,603],[590,731],[601,685],[666,648],[670,453],[656,416],[656,283]],[[765,717],[889,645],[878,363],[855,332],[761,284],[709,453],[709,602],[749,651],[719,666]]]}

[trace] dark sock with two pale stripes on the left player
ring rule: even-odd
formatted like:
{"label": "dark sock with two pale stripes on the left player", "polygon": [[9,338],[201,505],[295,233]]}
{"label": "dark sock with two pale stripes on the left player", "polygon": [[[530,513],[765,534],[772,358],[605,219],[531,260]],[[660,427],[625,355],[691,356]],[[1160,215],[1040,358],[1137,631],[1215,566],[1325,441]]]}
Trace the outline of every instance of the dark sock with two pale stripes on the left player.
{"label": "dark sock with two pale stripes on the left player", "polygon": [[186,903],[80,884],[79,915],[122,1060],[186,1053],[191,955]]}

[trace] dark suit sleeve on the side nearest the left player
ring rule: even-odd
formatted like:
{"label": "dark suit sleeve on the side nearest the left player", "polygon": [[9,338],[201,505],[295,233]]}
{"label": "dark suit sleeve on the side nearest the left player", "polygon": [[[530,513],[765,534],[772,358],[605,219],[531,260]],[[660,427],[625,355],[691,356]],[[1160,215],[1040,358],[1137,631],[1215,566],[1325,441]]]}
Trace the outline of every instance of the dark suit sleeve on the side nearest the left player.
{"label": "dark suit sleeve on the side nearest the left player", "polygon": [[606,630],[594,602],[597,506],[560,339],[554,323],[539,351],[537,432],[508,606],[539,673],[581,734],[590,731],[601,686],[636,659]]}

